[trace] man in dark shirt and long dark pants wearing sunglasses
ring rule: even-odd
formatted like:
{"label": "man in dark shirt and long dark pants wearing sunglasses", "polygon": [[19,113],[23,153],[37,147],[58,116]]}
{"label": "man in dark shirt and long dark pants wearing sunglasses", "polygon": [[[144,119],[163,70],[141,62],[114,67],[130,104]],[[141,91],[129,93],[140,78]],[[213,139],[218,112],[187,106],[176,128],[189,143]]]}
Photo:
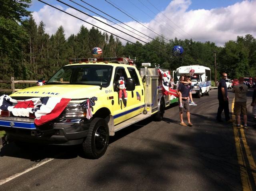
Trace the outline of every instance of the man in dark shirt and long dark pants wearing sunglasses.
{"label": "man in dark shirt and long dark pants wearing sunglasses", "polygon": [[218,100],[219,100],[219,107],[217,112],[217,122],[221,122],[221,113],[224,109],[225,113],[225,119],[227,122],[233,122],[232,119],[229,117],[229,107],[228,107],[228,91],[227,91],[227,85],[226,85],[226,78],[228,78],[228,75],[226,73],[222,73],[222,79],[220,80],[219,86],[218,86]]}

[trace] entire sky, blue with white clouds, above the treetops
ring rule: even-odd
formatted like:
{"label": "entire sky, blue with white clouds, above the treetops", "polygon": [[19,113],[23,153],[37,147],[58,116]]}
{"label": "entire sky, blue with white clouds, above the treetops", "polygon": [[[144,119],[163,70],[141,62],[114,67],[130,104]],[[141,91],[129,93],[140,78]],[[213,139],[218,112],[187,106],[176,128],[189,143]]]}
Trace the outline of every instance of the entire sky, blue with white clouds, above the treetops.
{"label": "entire sky, blue with white clouds, above the treetops", "polygon": [[[126,40],[136,42],[136,39],[110,28],[93,18],[85,16],[56,0],[44,1],[58,6],[58,8],[78,16],[107,32],[112,32],[113,34],[122,36]],[[62,1],[114,27],[119,27],[88,10],[84,10],[84,8],[70,2],[70,0]],[[90,8],[90,6],[84,4],[81,0],[74,1],[86,8]],[[224,46],[225,42],[236,40],[237,36],[245,36],[246,34],[256,36],[256,0],[108,0],[130,13],[152,30],[148,30],[138,22],[132,20],[132,18],[108,4],[106,0],[84,1],[152,38],[156,37],[156,33],[152,32],[154,30],[158,34],[166,37],[166,40],[174,39],[175,37],[184,40],[185,38],[190,39],[192,37],[194,41],[210,41],[215,42],[218,46]],[[40,21],[43,21],[46,32],[50,35],[54,34],[59,26],[64,27],[66,38],[71,34],[77,34],[81,25],[84,25],[88,29],[92,27],[90,24],[86,24],[54,8],[45,6],[38,0],[32,0],[30,10],[33,12],[32,15],[36,23],[39,24]],[[90,10],[103,15],[93,8],[90,8]],[[104,16],[109,18],[106,15]],[[116,22],[115,20],[113,21]],[[126,31],[123,28],[121,30]],[[137,38],[140,37],[137,36]],[[126,43],[125,40],[121,41]]]}

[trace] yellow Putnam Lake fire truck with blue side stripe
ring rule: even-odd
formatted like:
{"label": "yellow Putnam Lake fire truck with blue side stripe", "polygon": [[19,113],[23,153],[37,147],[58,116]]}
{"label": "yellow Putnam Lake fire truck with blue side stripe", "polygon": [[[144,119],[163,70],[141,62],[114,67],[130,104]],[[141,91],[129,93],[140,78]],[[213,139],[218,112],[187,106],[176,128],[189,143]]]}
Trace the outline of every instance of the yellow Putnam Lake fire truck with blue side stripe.
{"label": "yellow Putnam Lake fire truck with blue side stripe", "polygon": [[[136,67],[128,63],[127,58],[70,60],[46,85],[10,95],[15,100],[46,96],[70,98],[56,119],[35,125],[33,115],[14,116],[9,111],[8,115],[2,115],[1,111],[0,129],[19,143],[82,144],[88,157],[101,157],[106,152],[109,135],[151,115],[161,120],[164,107],[170,104],[170,98],[161,94],[158,76],[140,76]],[[118,89],[120,79],[125,82],[127,96]],[[81,103],[92,97],[96,100],[90,118]]]}

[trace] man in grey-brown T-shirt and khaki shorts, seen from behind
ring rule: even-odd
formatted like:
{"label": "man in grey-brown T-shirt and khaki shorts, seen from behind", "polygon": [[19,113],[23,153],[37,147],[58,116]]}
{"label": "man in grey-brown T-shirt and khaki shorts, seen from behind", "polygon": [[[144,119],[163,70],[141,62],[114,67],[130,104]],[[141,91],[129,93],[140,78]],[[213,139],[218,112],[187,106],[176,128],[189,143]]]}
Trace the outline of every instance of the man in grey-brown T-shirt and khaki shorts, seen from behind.
{"label": "man in grey-brown T-shirt and khaki shorts, seen from behind", "polygon": [[236,127],[241,127],[240,115],[244,115],[244,128],[248,129],[247,126],[247,106],[246,106],[246,93],[248,91],[248,86],[244,84],[244,77],[239,78],[239,84],[233,87],[232,92],[235,93],[235,103],[234,103],[234,115],[236,115]]}

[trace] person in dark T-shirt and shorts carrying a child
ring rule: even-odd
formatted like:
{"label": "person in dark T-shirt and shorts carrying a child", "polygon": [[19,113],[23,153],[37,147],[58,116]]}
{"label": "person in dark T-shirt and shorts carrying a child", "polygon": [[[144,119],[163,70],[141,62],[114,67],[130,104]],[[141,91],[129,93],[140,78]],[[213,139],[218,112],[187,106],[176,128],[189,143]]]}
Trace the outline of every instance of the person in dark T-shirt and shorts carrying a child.
{"label": "person in dark T-shirt and shorts carrying a child", "polygon": [[[185,77],[185,81],[190,78],[190,76]],[[182,105],[183,107],[180,107],[180,125],[182,126],[187,126],[186,123],[183,121],[183,116],[182,113],[186,112],[187,117],[188,117],[188,126],[192,127],[193,124],[190,122],[190,112],[189,112],[189,92],[191,89],[191,84],[183,84],[180,83],[177,89],[177,94],[180,92],[182,95]]]}

